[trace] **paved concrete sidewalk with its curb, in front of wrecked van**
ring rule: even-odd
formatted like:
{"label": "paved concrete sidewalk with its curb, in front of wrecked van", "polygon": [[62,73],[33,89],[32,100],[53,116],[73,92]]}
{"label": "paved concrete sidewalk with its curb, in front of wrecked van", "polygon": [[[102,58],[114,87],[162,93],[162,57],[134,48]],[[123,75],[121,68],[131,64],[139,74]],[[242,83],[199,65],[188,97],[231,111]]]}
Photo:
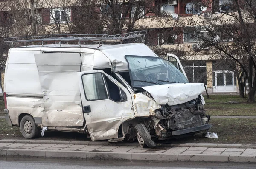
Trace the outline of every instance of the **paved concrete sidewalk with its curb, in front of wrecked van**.
{"label": "paved concrete sidewalk with its curb, in front of wrecked van", "polygon": [[[120,146],[117,144],[116,146],[104,146],[70,144],[70,141],[68,144],[64,141],[55,141],[56,144],[46,143],[46,141],[45,143],[25,143],[25,141],[23,140],[23,143],[17,143],[15,140],[0,140],[0,155],[6,158],[33,157],[81,158],[88,160],[256,163],[256,145],[247,145],[247,148],[241,148],[242,144],[185,143],[173,144],[171,148],[157,147],[155,149],[142,149],[140,146]],[[28,141],[30,142],[30,140]]]}

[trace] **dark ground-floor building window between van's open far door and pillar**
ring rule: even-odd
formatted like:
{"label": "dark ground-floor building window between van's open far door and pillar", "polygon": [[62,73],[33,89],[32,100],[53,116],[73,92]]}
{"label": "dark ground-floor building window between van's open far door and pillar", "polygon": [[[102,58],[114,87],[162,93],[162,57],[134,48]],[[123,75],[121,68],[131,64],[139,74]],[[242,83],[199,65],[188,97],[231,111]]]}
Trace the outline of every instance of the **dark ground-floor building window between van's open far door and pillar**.
{"label": "dark ground-floor building window between van's open far door and pillar", "polygon": [[207,71],[205,61],[183,61],[182,65],[189,79],[189,82],[206,84]]}

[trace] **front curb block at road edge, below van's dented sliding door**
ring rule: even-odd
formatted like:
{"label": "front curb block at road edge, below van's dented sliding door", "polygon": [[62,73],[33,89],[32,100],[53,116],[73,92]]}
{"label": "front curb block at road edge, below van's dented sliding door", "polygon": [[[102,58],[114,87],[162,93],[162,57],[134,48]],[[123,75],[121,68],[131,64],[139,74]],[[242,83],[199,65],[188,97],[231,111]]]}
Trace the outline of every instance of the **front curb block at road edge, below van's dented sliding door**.
{"label": "front curb block at road edge, below van's dented sliding door", "polygon": [[46,151],[46,158],[87,158],[87,152],[77,151]]}

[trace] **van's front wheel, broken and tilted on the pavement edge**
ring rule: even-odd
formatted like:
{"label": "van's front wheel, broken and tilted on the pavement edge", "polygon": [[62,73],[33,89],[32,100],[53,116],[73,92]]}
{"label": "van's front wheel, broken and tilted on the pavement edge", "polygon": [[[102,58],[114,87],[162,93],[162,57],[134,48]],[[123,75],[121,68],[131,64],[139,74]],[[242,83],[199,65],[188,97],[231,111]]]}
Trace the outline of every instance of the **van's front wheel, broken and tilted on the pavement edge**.
{"label": "van's front wheel, broken and tilted on the pavement edge", "polygon": [[149,134],[147,128],[144,124],[137,124],[135,126],[136,129],[136,136],[138,139],[138,142],[142,148],[149,147],[154,148],[156,146],[156,143],[151,140],[151,135]]}

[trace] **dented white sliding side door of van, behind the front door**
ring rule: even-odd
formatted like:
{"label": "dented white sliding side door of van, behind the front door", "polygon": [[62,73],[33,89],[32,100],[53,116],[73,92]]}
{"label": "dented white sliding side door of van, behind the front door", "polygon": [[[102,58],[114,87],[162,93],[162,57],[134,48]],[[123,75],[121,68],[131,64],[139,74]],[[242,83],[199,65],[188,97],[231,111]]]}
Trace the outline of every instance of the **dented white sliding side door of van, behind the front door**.
{"label": "dented white sliding side door of van, behind the front door", "polygon": [[79,53],[34,54],[44,98],[43,126],[82,127],[77,72],[81,70]]}

